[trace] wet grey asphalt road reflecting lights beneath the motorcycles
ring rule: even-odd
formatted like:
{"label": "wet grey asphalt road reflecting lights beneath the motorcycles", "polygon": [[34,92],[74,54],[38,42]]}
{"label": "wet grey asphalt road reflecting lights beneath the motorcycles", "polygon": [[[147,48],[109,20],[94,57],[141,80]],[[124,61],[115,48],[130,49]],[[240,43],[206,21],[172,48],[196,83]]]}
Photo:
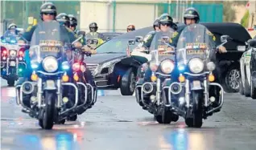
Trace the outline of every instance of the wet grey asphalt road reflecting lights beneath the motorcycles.
{"label": "wet grey asphalt road reflecting lights beneath the motorcycles", "polygon": [[202,128],[187,128],[184,119],[157,124],[134,96],[108,91],[76,122],[52,131],[21,112],[14,87],[1,89],[1,149],[19,150],[247,150],[256,149],[256,100],[225,94],[221,112],[204,120]]}

